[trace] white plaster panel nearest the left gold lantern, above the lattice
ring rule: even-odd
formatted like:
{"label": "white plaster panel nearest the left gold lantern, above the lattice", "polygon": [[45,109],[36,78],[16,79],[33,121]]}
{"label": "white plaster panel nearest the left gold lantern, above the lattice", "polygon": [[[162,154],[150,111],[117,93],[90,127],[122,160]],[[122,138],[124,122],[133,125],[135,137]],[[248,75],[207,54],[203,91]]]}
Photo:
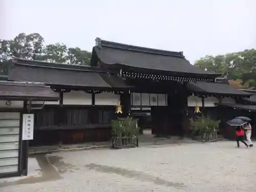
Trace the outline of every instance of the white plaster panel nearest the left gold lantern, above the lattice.
{"label": "white plaster panel nearest the left gold lantern, above the lattice", "polygon": [[103,92],[95,94],[95,105],[117,105],[120,101],[120,95],[111,93],[111,92]]}

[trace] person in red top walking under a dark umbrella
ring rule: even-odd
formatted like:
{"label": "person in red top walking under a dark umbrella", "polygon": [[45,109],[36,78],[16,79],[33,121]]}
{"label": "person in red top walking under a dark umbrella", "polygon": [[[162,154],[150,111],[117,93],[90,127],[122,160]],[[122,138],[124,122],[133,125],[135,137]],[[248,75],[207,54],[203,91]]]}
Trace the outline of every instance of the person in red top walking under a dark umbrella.
{"label": "person in red top walking under a dark umbrella", "polygon": [[245,144],[248,147],[248,144],[244,141],[244,130],[242,125],[246,124],[246,122],[240,118],[234,118],[232,120],[227,121],[227,123],[231,126],[236,126],[236,135],[237,135],[237,147],[240,147],[239,141]]}

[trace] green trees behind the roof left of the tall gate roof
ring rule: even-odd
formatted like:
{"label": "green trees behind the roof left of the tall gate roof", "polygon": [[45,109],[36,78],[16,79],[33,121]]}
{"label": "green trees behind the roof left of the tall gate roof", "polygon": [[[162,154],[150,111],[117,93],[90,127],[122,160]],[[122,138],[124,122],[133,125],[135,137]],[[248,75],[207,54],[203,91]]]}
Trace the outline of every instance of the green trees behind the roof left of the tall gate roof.
{"label": "green trees behind the roof left of the tall gate roof", "polygon": [[0,75],[7,75],[13,56],[24,59],[90,65],[91,52],[67,48],[64,44],[45,45],[39,33],[20,33],[14,39],[0,39]]}

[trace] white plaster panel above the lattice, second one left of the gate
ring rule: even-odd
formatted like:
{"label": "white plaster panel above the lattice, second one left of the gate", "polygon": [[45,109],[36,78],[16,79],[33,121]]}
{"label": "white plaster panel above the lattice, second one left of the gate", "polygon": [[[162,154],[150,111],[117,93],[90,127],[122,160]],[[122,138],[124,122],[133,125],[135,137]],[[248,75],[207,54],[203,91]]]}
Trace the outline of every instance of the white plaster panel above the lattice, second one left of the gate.
{"label": "white plaster panel above the lattice, second one left of the gate", "polygon": [[63,105],[91,105],[92,94],[84,91],[63,93]]}

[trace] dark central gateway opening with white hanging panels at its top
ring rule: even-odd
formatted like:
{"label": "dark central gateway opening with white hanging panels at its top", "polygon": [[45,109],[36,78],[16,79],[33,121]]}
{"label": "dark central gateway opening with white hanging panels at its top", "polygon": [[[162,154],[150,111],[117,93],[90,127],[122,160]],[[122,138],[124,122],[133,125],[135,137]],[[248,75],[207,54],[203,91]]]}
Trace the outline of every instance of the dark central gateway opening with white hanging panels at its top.
{"label": "dark central gateway opening with white hanging panels at its top", "polygon": [[[148,130],[151,130],[156,136],[184,136],[187,129],[185,86],[179,82],[148,81],[139,90],[143,90],[143,93],[131,93],[131,114],[139,119],[141,133],[147,130],[148,134]],[[155,93],[145,93],[150,90]]]}

